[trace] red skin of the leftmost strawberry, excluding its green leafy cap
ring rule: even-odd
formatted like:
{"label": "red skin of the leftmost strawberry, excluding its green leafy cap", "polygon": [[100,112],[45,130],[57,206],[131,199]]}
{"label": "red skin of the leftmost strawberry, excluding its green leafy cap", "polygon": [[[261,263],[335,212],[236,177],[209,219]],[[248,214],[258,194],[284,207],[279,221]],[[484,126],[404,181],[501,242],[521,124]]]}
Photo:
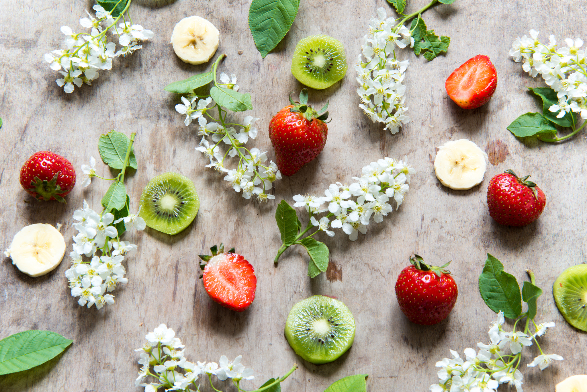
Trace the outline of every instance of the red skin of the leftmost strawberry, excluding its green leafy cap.
{"label": "red skin of the leftmost strawberry, excluding its green leafy cap", "polygon": [[[45,200],[42,195],[39,195],[35,190],[31,190],[31,183],[35,177],[39,177],[41,181],[50,181],[59,172],[56,185],[59,185],[60,190],[56,195],[64,197],[72,191],[75,186],[75,170],[69,160],[62,156],[50,152],[39,151],[34,153],[31,158],[27,159],[25,164],[21,167],[21,186],[30,195],[35,196],[38,200]],[[54,196],[48,197],[49,200],[56,200]]]}

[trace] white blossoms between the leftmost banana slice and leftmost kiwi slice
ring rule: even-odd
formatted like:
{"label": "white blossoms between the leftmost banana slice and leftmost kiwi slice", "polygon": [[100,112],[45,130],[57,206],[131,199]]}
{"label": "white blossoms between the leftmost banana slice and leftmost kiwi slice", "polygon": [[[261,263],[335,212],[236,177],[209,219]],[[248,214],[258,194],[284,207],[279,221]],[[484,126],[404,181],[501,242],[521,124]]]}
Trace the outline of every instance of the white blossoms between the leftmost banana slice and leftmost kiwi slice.
{"label": "white blossoms between the leftmost banana slice and leftmost kiwi slice", "polygon": [[[139,209],[140,211],[140,209]],[[137,246],[128,241],[120,241],[116,223],[124,221],[126,229],[134,227],[144,230],[145,221],[137,214],[114,220],[114,215],[106,213],[100,216],[90,209],[86,200],[83,200],[83,209],[73,212],[74,223],[79,233],[73,237],[73,251],[69,253],[72,266],[65,272],[69,280],[69,287],[73,297],[80,297],[77,303],[81,306],[98,309],[106,304],[114,303],[114,296],[110,293],[117,284],[127,283],[126,271],[122,262],[124,256]],[[100,251],[100,256],[96,252]],[[84,261],[83,256],[90,261]]]}

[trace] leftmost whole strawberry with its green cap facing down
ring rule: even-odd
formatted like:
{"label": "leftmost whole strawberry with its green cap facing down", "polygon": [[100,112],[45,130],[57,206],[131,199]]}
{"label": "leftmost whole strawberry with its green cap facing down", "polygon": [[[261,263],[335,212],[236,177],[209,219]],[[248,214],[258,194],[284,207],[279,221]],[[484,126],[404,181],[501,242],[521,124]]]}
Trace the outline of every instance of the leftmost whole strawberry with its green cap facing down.
{"label": "leftmost whole strawberry with its green cap facing down", "polygon": [[58,200],[75,185],[75,170],[69,160],[50,151],[39,151],[21,167],[21,185],[37,200]]}

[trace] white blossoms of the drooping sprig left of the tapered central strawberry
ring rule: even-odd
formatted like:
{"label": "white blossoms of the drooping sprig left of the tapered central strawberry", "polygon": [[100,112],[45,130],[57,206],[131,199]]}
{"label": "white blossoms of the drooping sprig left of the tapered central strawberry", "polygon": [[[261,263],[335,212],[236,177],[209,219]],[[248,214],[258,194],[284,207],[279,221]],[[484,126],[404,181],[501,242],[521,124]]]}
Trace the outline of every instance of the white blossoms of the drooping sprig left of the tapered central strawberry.
{"label": "white blossoms of the drooping sprig left of the tapered central strawberry", "polygon": [[[227,86],[237,90],[237,78],[232,74],[231,78],[224,72],[220,74],[220,81]],[[188,99],[189,98],[189,99]],[[241,192],[242,197],[251,199],[257,195],[257,200],[266,202],[268,199],[275,199],[275,196],[268,193],[275,180],[281,179],[277,165],[271,160],[267,162],[267,152],[261,152],[257,148],[247,149],[244,144],[249,138],[257,137],[258,129],[255,123],[259,120],[252,116],[246,116],[244,123],[238,124],[241,128],[234,128],[235,124],[225,124],[222,117],[214,119],[210,116],[208,105],[213,103],[212,98],[199,98],[198,96],[181,97],[183,105],[176,105],[178,113],[185,115],[185,126],[190,125],[192,120],[198,120],[200,125],[198,135],[202,136],[200,145],[195,149],[210,159],[206,167],[211,167],[218,172],[226,173],[224,180],[230,182],[232,189]],[[214,102],[215,106],[218,106]],[[208,122],[206,116],[212,120]],[[210,139],[207,139],[210,138]],[[227,150],[221,152],[221,142],[227,145]],[[236,169],[227,169],[227,156],[234,158],[238,155],[238,166]]]}

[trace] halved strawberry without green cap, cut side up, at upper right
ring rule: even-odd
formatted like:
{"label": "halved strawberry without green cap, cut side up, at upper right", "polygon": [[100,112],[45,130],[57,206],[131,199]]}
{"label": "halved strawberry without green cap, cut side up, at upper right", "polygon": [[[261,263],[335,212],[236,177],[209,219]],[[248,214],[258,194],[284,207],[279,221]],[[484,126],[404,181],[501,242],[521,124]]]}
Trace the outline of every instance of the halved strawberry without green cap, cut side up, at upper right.
{"label": "halved strawberry without green cap, cut side up, at upper right", "polygon": [[444,83],[450,99],[463,109],[475,109],[486,103],[497,87],[495,66],[485,55],[468,59],[448,76]]}

